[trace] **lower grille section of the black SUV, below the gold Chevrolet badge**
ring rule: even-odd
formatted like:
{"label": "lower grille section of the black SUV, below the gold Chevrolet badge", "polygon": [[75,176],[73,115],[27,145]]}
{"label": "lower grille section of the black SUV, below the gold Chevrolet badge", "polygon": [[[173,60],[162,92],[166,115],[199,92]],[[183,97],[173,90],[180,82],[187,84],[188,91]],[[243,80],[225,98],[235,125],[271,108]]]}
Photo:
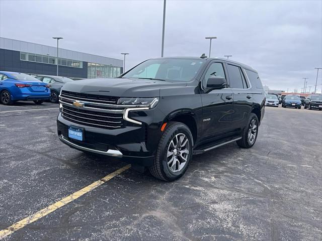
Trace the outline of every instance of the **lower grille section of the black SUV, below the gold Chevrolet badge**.
{"label": "lower grille section of the black SUV, below the gold Chevrolet badge", "polygon": [[63,105],[61,115],[73,123],[105,129],[124,128],[122,113],[106,113]]}

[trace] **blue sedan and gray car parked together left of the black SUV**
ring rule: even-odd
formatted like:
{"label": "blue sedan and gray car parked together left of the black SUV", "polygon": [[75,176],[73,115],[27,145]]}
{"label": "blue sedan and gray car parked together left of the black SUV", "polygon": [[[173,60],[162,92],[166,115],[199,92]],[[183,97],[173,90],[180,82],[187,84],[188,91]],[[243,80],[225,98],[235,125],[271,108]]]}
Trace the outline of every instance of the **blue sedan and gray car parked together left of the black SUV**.
{"label": "blue sedan and gray car parked together left of the black SUV", "polygon": [[24,73],[0,71],[0,102],[5,105],[19,100],[41,104],[45,100],[58,103],[60,88],[72,79],[41,75],[33,77]]}

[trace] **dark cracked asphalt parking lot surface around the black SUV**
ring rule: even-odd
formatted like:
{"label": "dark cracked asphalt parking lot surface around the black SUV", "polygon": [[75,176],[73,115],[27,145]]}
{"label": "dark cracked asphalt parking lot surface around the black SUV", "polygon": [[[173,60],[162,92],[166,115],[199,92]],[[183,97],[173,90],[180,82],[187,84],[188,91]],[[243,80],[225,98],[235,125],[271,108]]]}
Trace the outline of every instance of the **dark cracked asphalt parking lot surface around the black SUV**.
{"label": "dark cracked asphalt parking lot surface around the black SUV", "polygon": [[[0,230],[127,165],[60,143],[57,114],[0,105]],[[194,156],[172,183],[127,169],[2,240],[321,240],[321,144],[322,111],[266,107],[252,149]]]}

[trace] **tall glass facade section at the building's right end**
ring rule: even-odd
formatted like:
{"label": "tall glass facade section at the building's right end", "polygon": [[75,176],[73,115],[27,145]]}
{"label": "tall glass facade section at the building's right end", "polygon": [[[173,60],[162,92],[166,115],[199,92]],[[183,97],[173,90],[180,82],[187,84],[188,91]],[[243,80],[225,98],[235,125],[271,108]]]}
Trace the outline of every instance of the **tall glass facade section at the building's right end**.
{"label": "tall glass facade section at the building's right end", "polygon": [[97,63],[88,63],[88,78],[114,78],[118,77],[121,73],[121,67],[97,64]]}

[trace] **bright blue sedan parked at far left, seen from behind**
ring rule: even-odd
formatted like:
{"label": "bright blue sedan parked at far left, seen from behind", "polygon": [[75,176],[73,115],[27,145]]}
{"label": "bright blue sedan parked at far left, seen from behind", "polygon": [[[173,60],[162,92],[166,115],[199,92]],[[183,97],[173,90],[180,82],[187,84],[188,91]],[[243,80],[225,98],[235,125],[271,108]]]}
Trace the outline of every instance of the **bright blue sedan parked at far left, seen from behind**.
{"label": "bright blue sedan parked at far left, seen from behind", "polygon": [[13,104],[18,100],[32,100],[41,104],[50,97],[47,83],[23,73],[0,71],[0,102]]}

